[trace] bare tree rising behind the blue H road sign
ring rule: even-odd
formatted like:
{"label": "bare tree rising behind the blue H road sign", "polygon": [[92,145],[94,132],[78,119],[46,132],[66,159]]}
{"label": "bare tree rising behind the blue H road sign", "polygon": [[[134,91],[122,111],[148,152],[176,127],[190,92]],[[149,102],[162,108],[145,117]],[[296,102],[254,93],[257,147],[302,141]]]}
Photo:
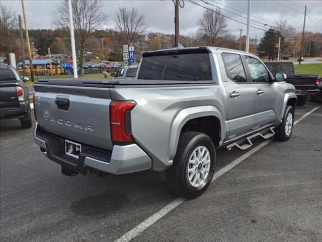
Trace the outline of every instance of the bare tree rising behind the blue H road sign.
{"label": "bare tree rising behind the blue H road sign", "polygon": [[137,42],[145,33],[145,17],[134,8],[120,7],[114,16],[114,23],[123,43]]}

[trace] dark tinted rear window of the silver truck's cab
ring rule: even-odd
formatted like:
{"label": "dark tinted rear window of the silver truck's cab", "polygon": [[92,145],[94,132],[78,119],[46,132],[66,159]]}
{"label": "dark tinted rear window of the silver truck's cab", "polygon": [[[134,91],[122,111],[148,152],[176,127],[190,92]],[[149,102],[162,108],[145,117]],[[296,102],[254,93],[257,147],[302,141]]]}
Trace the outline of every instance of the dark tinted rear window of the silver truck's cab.
{"label": "dark tinted rear window of the silver truck's cab", "polygon": [[170,54],[143,58],[138,79],[212,80],[208,53]]}

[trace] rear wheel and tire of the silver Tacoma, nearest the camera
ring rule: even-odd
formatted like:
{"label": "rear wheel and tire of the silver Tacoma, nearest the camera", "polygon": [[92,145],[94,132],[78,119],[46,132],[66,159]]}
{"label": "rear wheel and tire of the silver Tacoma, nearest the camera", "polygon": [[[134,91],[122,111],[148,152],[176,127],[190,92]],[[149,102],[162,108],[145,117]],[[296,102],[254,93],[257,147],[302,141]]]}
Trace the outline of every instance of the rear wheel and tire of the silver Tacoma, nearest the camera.
{"label": "rear wheel and tire of the silver Tacoma, nearest the camera", "polygon": [[182,134],[174,163],[167,170],[170,190],[180,197],[198,197],[211,183],[215,160],[215,147],[209,136],[199,132]]}

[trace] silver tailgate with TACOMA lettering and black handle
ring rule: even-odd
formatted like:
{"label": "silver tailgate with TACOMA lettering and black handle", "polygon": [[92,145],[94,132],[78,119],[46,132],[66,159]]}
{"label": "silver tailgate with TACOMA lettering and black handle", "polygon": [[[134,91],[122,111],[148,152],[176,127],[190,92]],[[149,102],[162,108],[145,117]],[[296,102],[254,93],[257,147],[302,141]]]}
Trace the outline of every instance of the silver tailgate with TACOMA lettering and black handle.
{"label": "silver tailgate with TACOMA lettering and black handle", "polygon": [[112,150],[109,88],[37,85],[39,126],[65,139]]}

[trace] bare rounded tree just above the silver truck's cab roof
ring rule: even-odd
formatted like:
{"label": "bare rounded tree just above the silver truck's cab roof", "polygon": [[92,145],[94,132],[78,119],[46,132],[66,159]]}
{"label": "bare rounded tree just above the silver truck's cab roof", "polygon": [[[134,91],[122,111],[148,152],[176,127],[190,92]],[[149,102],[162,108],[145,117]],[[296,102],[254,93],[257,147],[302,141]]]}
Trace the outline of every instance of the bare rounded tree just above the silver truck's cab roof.
{"label": "bare rounded tree just above the silver truck's cab roof", "polygon": [[210,46],[215,44],[216,38],[223,34],[227,27],[225,18],[220,14],[220,9],[207,9],[197,21],[200,33],[204,35]]}

